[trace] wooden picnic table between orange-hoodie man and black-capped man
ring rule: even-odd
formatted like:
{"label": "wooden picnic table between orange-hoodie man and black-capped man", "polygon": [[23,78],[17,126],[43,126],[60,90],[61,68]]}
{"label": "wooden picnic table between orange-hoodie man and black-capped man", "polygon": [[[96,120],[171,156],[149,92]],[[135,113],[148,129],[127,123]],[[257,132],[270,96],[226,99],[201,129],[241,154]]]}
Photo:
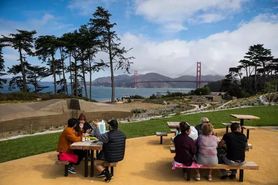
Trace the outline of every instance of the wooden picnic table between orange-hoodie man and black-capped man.
{"label": "wooden picnic table between orange-hoodie man and black-capped man", "polygon": [[84,177],[88,177],[88,151],[91,150],[91,177],[94,176],[94,150],[96,150],[96,154],[98,154],[99,150],[102,150],[103,142],[96,140],[90,140],[85,142],[75,142],[70,145],[70,149],[72,150],[84,150],[85,152],[85,172]]}

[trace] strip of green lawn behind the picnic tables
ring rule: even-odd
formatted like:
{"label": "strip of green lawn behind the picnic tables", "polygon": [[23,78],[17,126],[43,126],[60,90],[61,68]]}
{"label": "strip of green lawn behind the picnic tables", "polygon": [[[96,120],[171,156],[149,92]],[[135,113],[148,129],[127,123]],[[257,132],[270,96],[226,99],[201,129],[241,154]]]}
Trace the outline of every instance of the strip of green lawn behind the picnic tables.
{"label": "strip of green lawn behind the picnic tables", "polygon": [[[230,114],[245,114],[260,117],[260,120],[245,120],[245,125],[250,126],[278,126],[278,106],[260,106],[231,110],[220,110],[208,113],[196,113],[185,116],[175,116],[162,119],[152,119],[134,123],[123,123],[119,125],[127,138],[155,135],[157,131],[170,133],[166,121],[187,121],[195,126],[200,123],[202,117],[208,117],[214,128],[224,128],[221,123],[238,121],[230,117]],[[60,133],[30,136],[11,139],[0,142],[0,163],[23,158],[35,154],[41,154],[56,150]]]}

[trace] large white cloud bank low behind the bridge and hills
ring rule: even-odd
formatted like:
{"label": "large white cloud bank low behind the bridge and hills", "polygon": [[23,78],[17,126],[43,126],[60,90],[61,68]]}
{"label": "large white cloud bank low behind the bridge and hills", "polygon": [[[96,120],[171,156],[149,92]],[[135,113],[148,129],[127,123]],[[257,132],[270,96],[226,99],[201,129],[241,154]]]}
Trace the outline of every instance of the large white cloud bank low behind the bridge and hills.
{"label": "large white cloud bank low behind the bridge and hills", "polygon": [[127,55],[136,58],[131,65],[131,73],[138,70],[140,74],[158,72],[173,77],[194,63],[202,62],[225,75],[230,67],[239,65],[238,61],[243,59],[251,45],[263,43],[265,48],[272,50],[272,55],[278,57],[278,22],[274,21],[275,16],[260,14],[249,23],[241,24],[237,30],[190,42],[177,39],[154,42],[144,35],[126,33],[121,36],[121,43],[125,48],[133,47]]}

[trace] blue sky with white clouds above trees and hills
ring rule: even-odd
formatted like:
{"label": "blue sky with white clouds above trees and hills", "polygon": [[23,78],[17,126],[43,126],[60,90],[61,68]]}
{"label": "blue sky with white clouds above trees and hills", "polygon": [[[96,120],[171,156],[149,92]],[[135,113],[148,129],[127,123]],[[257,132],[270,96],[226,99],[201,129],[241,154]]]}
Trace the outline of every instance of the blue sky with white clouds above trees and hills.
{"label": "blue sky with white clouds above trees and hills", "polygon": [[[248,46],[257,43],[278,57],[277,0],[2,0],[0,35],[34,29],[36,36],[61,36],[88,23],[97,6],[113,15],[111,22],[117,23],[122,46],[133,47],[128,53],[136,57],[131,71],[140,74],[158,72],[171,77],[201,61],[225,75],[229,67],[238,65]],[[5,48],[3,53],[6,67],[18,64],[16,51]],[[107,57],[99,53],[96,60]],[[28,61],[41,63],[36,57]],[[107,68],[93,79],[109,74]]]}

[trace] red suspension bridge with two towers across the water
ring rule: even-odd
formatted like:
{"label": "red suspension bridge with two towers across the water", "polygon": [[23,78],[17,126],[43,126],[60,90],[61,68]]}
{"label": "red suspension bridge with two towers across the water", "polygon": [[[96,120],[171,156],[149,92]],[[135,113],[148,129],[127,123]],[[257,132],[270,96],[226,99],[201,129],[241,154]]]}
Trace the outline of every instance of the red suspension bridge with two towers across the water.
{"label": "red suspension bridge with two towers across the water", "polygon": [[[202,73],[201,73],[202,72]],[[202,75],[201,75],[202,74]],[[183,76],[187,76],[190,80],[183,80]],[[190,68],[185,70],[184,72],[169,78],[169,80],[151,80],[144,81],[137,79],[137,71],[134,71],[134,81],[125,83],[125,84],[134,84],[134,88],[137,88],[137,84],[139,83],[152,83],[152,82],[196,82],[196,88],[201,87],[201,83],[215,82],[218,80],[222,80],[225,77],[219,75],[217,72],[208,68],[206,65],[201,64],[201,62],[196,62]]]}

